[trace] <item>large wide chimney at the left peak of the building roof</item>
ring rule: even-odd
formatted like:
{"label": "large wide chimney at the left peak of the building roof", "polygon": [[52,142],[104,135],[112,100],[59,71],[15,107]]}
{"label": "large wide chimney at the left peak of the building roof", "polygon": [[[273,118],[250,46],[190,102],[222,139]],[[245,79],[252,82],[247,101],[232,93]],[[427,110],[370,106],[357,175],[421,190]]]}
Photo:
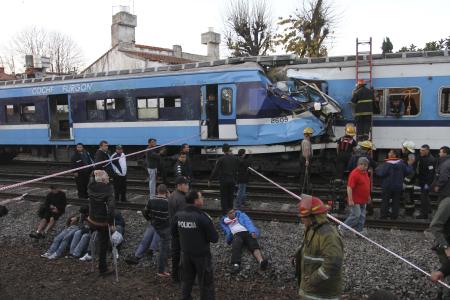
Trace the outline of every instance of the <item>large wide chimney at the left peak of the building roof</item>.
{"label": "large wide chimney at the left peak of the building roof", "polygon": [[112,16],[111,47],[118,44],[134,45],[137,17],[132,15],[127,7],[121,7],[121,11]]}

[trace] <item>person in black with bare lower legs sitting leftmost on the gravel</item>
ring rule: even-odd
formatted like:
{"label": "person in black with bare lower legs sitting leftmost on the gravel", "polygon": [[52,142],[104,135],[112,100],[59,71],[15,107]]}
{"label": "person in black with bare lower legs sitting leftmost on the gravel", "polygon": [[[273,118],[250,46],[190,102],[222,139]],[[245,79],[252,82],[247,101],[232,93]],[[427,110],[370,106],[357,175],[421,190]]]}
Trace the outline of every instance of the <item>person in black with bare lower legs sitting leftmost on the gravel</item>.
{"label": "person in black with bare lower legs sitting leftmost on the gravel", "polygon": [[50,186],[50,193],[47,194],[44,204],[39,207],[38,216],[41,219],[36,232],[30,233],[30,237],[42,239],[49,232],[59,217],[66,210],[66,194],[56,186]]}

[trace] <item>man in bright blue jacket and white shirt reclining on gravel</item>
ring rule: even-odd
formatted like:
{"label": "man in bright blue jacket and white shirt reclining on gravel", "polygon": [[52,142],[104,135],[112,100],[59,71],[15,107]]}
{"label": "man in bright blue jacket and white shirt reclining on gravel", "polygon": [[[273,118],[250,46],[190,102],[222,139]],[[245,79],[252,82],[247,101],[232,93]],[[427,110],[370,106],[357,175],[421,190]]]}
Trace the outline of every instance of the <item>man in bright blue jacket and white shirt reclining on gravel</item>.
{"label": "man in bright blue jacket and white shirt reclining on gravel", "polygon": [[252,220],[239,210],[230,210],[226,216],[220,220],[220,226],[225,234],[227,244],[231,244],[231,264],[232,272],[238,273],[241,270],[242,248],[244,246],[253,254],[259,263],[261,270],[266,270],[268,260],[264,259],[256,238],[259,230],[253,225]]}

